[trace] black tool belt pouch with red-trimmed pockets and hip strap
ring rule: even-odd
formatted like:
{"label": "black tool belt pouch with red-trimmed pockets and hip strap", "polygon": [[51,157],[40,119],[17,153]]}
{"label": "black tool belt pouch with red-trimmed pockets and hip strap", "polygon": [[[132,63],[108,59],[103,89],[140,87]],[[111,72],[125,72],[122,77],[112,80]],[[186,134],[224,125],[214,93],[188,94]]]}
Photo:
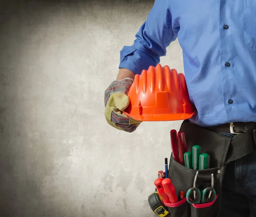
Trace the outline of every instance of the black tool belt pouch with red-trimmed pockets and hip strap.
{"label": "black tool belt pouch with red-trimmed pockets and hip strap", "polygon": [[188,120],[181,124],[180,131],[185,133],[188,151],[192,146],[200,145],[201,153],[210,155],[210,167],[204,170],[186,168],[171,156],[169,163],[169,178],[175,186],[176,195],[193,187],[195,174],[198,171],[196,187],[202,191],[211,187],[212,174],[216,198],[210,203],[190,204],[186,198],[176,204],[165,205],[172,217],[219,217],[221,211],[222,182],[228,162],[239,159],[253,151],[253,132],[237,134],[233,138],[199,127]]}

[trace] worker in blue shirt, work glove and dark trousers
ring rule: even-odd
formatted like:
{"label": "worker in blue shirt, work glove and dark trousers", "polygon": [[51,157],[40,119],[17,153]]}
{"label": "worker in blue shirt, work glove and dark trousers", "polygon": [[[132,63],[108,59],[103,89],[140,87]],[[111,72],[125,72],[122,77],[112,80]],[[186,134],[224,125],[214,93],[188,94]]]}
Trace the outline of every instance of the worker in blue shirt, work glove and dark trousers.
{"label": "worker in blue shirt, work glove and dark trousers", "polygon": [[[133,45],[120,51],[119,73],[105,90],[107,122],[129,133],[139,127],[122,113],[128,90],[176,39],[197,110],[189,120],[230,137],[256,129],[256,0],[155,0]],[[256,216],[256,151],[227,166],[221,217],[227,216]]]}

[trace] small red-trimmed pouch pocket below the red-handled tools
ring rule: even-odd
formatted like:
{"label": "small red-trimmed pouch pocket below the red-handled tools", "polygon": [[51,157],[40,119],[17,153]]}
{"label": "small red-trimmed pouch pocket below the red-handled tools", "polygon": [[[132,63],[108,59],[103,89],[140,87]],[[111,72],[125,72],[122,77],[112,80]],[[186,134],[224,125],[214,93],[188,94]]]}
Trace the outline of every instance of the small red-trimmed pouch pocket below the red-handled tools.
{"label": "small red-trimmed pouch pocket below the red-handled tools", "polygon": [[164,203],[172,217],[190,217],[190,206],[186,198],[177,203]]}

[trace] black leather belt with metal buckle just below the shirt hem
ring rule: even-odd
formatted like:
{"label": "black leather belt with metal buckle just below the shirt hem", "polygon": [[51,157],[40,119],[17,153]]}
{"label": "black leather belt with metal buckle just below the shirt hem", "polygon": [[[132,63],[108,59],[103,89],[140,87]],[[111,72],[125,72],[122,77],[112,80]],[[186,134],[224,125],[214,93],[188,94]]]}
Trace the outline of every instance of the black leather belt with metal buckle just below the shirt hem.
{"label": "black leather belt with metal buckle just below the shirt hem", "polygon": [[244,133],[250,130],[256,130],[256,122],[234,122],[221,124],[213,127],[204,127],[216,132],[224,133]]}

